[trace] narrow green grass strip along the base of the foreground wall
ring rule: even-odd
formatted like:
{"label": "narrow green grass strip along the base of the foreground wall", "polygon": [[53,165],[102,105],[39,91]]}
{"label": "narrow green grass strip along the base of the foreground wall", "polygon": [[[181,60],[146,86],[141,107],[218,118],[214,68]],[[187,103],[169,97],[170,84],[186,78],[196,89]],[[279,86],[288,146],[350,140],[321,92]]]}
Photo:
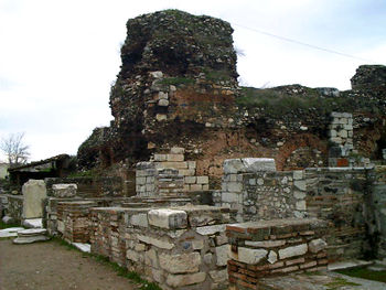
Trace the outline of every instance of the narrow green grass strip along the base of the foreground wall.
{"label": "narrow green grass strip along the base of the foreground wall", "polygon": [[[66,247],[68,250],[77,250],[81,251],[78,248],[75,246],[71,245],[69,243],[57,238],[53,237],[53,240],[60,244],[61,246]],[[101,256],[101,255],[95,255],[95,254],[88,254],[88,253],[82,253],[83,257],[89,257],[95,259],[96,261],[106,265],[107,267],[110,267],[115,272],[117,272],[118,276],[125,277],[129,280],[131,280],[135,283],[141,284],[139,289],[141,290],[162,290],[157,283],[149,282],[144,279],[142,279],[139,273],[129,271],[128,269],[120,267],[118,264],[112,262],[108,259],[108,257]]]}

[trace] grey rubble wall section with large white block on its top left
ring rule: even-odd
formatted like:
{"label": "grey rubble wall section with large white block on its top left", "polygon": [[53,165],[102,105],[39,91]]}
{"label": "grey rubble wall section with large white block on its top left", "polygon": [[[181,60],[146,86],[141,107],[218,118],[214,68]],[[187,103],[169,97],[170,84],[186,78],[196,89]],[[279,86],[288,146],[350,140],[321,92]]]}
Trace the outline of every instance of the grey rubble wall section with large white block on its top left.
{"label": "grey rubble wall section with large white block on its top left", "polygon": [[277,172],[272,159],[253,158],[225,160],[221,198],[215,194],[239,222],[304,217],[304,198],[303,171]]}

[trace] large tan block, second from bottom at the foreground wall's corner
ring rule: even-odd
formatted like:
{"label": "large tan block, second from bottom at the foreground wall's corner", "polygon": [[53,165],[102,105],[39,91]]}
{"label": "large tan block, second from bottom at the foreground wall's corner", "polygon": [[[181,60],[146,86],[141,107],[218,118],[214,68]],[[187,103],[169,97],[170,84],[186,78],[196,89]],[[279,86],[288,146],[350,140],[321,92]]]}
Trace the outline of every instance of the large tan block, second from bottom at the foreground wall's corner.
{"label": "large tan block, second from bottom at the foreground wall's corner", "polygon": [[159,255],[160,266],[171,273],[197,272],[201,265],[199,253],[180,254],[180,255]]}

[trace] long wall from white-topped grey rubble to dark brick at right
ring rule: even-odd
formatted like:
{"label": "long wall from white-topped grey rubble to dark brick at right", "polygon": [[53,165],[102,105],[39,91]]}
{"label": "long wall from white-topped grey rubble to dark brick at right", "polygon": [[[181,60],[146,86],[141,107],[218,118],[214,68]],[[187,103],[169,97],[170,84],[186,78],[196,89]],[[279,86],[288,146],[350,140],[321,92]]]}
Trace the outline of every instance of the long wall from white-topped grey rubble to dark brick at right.
{"label": "long wall from white-topped grey rubble to dark brick at right", "polygon": [[[379,238],[376,236],[382,233],[383,221],[380,208],[385,205],[383,185],[372,189],[373,170],[328,168],[277,172],[272,162],[267,159],[226,160],[222,191],[213,193],[215,205],[237,210],[238,222],[288,217],[328,221],[331,261],[366,257],[377,251]],[[374,198],[379,200],[376,205],[369,200],[374,190],[377,192]],[[369,213],[375,207],[379,227],[371,233],[368,228],[375,217]]]}

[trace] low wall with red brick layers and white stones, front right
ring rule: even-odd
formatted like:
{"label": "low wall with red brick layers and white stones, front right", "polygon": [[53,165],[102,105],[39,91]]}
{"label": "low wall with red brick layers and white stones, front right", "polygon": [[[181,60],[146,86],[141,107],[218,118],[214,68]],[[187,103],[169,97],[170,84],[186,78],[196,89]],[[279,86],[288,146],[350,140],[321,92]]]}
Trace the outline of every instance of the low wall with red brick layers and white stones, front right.
{"label": "low wall with red brick layers and white stones, front right", "polygon": [[260,289],[264,277],[326,269],[326,226],[308,218],[228,225],[229,289]]}

